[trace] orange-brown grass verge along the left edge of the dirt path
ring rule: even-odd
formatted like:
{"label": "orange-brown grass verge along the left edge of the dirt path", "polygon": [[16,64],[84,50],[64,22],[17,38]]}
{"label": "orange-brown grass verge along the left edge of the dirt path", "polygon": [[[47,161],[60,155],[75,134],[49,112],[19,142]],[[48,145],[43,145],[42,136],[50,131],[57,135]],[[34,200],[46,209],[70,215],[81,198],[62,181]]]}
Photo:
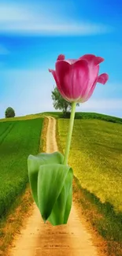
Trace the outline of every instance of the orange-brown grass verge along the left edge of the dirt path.
{"label": "orange-brown grass verge along the left edge of the dirt path", "polygon": [[[46,128],[48,125],[47,118],[43,121],[43,130],[39,144],[39,151],[46,149]],[[38,147],[38,143],[37,143]],[[38,153],[38,152],[37,152]],[[35,153],[36,154],[36,153]],[[25,224],[27,217],[31,216],[33,210],[33,198],[30,187],[27,184],[21,195],[18,195],[15,202],[9,208],[5,217],[0,219],[0,256],[9,255],[9,248],[13,245],[13,239],[20,233],[20,228]]]}

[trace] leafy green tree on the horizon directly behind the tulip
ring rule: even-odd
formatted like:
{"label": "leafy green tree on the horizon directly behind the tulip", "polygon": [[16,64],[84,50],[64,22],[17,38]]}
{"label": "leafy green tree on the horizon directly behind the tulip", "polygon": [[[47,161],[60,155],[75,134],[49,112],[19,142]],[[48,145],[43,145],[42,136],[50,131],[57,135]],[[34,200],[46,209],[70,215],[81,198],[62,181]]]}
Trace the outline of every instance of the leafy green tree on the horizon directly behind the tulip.
{"label": "leafy green tree on the horizon directly behind the tulip", "polygon": [[[55,109],[61,109],[63,112],[64,117],[68,116],[68,112],[71,110],[72,103],[67,102],[65,98],[63,98],[60,94],[60,92],[57,90],[57,87],[54,87],[54,91],[52,91],[51,95],[53,99],[53,106]],[[79,106],[79,103],[76,104],[76,106]]]}

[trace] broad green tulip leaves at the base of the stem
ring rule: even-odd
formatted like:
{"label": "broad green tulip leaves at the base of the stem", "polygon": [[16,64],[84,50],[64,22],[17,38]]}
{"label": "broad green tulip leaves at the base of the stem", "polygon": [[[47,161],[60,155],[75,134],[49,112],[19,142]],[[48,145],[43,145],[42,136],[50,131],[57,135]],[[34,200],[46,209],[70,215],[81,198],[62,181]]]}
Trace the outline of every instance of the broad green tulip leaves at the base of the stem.
{"label": "broad green tulip leaves at the base of the stem", "polygon": [[31,191],[43,221],[66,224],[72,206],[72,169],[59,152],[28,157]]}

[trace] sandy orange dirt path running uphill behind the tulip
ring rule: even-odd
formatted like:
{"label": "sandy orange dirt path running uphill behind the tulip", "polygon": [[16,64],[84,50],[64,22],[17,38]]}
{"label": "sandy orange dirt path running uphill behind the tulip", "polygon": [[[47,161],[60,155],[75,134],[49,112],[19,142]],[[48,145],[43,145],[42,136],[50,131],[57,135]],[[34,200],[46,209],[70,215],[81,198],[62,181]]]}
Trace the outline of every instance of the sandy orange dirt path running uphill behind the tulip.
{"label": "sandy orange dirt path running uphill behind the tulip", "polygon": [[[53,117],[48,118],[46,152],[51,153],[57,150],[56,121]],[[38,208],[34,206],[31,217],[14,244],[9,256],[98,256],[91,235],[79,220],[74,204],[68,224],[56,227],[44,224]]]}

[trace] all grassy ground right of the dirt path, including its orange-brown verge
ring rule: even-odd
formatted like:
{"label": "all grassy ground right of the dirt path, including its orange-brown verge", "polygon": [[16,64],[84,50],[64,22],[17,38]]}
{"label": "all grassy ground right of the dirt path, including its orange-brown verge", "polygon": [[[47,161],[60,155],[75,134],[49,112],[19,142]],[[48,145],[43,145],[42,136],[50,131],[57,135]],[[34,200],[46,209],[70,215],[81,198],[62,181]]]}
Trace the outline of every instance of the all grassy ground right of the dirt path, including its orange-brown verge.
{"label": "all grassy ground right of the dirt path, including its orange-brown verge", "polygon": [[[67,131],[68,120],[58,120],[61,152]],[[122,255],[121,138],[120,124],[76,120],[69,156],[81,212],[102,238],[102,252],[109,256]]]}

